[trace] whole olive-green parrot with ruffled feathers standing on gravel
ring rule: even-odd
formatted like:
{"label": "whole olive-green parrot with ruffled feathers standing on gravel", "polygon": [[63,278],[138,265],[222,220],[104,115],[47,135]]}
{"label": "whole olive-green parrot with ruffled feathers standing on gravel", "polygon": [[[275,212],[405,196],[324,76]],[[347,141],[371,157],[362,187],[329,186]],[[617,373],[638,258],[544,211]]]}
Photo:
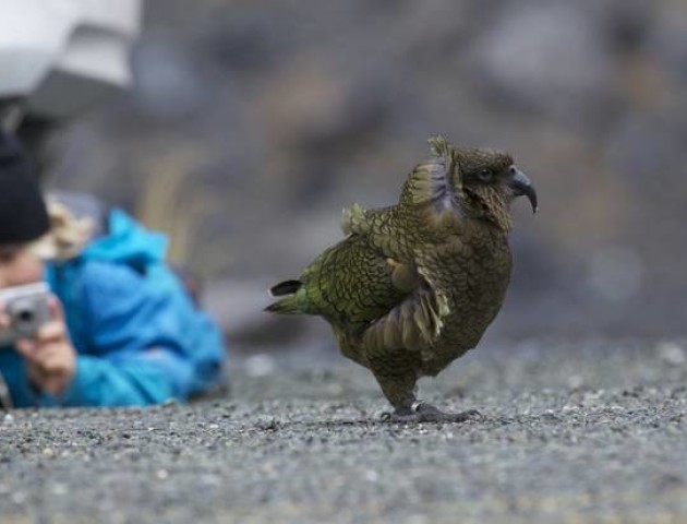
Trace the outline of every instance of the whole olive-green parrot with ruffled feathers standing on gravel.
{"label": "whole olive-green parrot with ruffled feathers standing on gravel", "polygon": [[[399,420],[460,420],[418,403],[415,383],[477,346],[511,273],[510,202],[529,179],[505,153],[430,139],[397,204],[343,210],[341,241],[272,288],[275,313],[324,318],[341,353],[370,369]],[[453,418],[451,418],[453,417]]]}

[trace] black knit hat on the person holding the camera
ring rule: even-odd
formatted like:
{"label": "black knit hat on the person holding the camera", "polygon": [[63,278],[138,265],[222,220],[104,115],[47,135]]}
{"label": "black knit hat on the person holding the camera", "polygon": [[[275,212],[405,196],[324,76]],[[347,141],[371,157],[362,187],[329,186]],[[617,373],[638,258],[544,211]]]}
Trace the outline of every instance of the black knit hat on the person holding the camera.
{"label": "black knit hat on the person holding the camera", "polygon": [[0,243],[31,242],[49,228],[36,167],[19,142],[0,131]]}

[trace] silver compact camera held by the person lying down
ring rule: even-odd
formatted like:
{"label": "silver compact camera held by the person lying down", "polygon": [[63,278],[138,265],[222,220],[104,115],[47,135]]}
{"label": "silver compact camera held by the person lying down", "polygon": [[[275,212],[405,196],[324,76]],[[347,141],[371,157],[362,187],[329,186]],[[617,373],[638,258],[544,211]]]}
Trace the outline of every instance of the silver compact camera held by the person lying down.
{"label": "silver compact camera held by the person lying down", "polygon": [[0,330],[0,347],[36,336],[40,326],[50,320],[49,296],[50,288],[45,282],[0,289],[0,307],[10,318],[10,325]]}

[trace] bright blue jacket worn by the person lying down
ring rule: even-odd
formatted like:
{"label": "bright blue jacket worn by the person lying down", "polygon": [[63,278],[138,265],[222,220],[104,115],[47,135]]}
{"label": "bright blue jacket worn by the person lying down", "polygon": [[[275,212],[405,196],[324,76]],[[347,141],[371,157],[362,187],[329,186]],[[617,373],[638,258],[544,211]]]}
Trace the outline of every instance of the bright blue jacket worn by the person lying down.
{"label": "bright blue jacket worn by the person lying down", "polygon": [[16,352],[0,349],[17,407],[184,401],[221,380],[221,334],[165,263],[166,248],[165,236],[116,210],[106,236],[73,260],[47,264],[77,352],[76,373],[59,398],[39,394]]}

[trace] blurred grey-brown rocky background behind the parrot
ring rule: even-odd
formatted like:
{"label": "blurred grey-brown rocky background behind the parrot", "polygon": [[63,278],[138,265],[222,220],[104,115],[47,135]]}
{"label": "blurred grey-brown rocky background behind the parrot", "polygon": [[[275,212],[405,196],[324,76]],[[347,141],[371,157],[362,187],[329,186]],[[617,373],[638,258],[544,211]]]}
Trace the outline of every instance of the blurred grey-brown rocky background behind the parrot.
{"label": "blurred grey-brown rocky background behind the parrot", "polygon": [[439,132],[508,150],[540,194],[490,340],[687,332],[683,0],[147,0],[132,60],[50,184],[169,233],[233,350],[334,346],[266,289],[342,206],[393,203]]}

